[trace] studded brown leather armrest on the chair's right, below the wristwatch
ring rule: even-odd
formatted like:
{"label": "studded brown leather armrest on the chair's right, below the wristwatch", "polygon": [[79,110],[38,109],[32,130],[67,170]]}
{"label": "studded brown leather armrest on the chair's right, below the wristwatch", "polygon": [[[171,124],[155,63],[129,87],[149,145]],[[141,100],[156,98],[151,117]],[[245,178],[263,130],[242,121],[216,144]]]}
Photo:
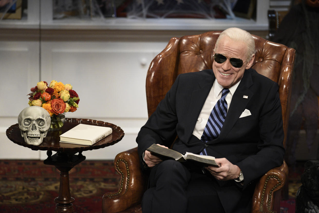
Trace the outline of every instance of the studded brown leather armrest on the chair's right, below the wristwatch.
{"label": "studded brown leather armrest on the chair's right, below the wristwatch", "polygon": [[255,188],[251,212],[280,212],[280,189],[287,178],[288,166],[285,161],[263,175]]}

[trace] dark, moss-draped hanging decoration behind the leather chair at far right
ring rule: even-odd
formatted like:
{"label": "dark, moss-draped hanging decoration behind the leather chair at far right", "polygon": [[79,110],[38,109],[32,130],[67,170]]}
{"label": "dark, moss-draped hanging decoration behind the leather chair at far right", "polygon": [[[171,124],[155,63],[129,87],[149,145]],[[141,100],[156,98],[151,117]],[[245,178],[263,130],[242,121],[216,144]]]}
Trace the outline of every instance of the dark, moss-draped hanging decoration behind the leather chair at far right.
{"label": "dark, moss-draped hanging decoration behind the leather chair at far right", "polygon": [[303,128],[306,131],[308,150],[313,147],[318,129],[318,26],[319,8],[309,6],[307,1],[303,0],[290,9],[273,39],[274,42],[296,49],[285,155],[288,165],[295,164],[295,149],[300,129]]}

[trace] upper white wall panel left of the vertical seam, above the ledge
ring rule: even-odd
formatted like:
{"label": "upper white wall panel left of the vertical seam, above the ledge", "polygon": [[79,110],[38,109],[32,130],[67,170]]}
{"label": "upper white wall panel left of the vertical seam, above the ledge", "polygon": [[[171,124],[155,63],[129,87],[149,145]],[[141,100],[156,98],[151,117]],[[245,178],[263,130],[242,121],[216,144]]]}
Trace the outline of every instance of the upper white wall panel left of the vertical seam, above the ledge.
{"label": "upper white wall panel left of the vertical seam, above the ledge", "polygon": [[0,42],[0,56],[0,117],[16,116],[39,79],[39,43]]}

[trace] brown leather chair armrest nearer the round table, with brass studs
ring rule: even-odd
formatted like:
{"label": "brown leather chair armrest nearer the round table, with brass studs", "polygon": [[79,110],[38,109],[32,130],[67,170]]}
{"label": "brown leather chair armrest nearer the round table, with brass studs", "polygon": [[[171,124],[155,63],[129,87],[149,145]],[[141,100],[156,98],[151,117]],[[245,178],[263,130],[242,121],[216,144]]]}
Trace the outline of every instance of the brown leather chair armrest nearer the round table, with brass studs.
{"label": "brown leather chair armrest nearer the round table, with brass studs", "polygon": [[145,192],[144,175],[140,168],[137,147],[117,154],[114,168],[121,175],[121,182],[118,192],[103,195],[103,213],[120,212],[137,205]]}

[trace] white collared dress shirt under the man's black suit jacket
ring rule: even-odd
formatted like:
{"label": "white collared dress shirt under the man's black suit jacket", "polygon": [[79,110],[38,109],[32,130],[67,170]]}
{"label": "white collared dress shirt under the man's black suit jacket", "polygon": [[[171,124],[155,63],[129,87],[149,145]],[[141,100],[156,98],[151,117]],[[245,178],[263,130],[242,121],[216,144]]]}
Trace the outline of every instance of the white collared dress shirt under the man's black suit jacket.
{"label": "white collared dress shirt under the man's black suit jacket", "polygon": [[[226,95],[225,99],[227,102],[227,111],[229,109],[230,103],[232,101],[234,92],[236,91],[240,81],[238,81],[234,86],[229,88],[229,93]],[[213,86],[211,87],[211,91],[209,92],[204,106],[198,116],[193,135],[196,136],[198,139],[201,139],[202,134],[204,132],[204,128],[207,124],[208,118],[211,114],[211,110],[213,110],[217,101],[221,98],[221,92],[224,87],[222,87],[215,79]]]}

